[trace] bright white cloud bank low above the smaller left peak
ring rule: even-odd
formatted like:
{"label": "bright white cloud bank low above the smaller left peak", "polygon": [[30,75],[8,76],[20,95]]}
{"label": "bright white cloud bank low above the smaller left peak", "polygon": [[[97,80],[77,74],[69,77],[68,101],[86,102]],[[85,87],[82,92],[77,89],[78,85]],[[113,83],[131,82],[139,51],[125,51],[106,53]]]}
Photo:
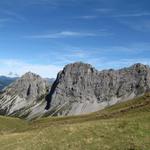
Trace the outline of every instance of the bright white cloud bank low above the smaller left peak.
{"label": "bright white cloud bank low above the smaller left peak", "polygon": [[13,59],[0,60],[0,74],[8,75],[10,72],[14,74],[23,75],[28,71],[39,74],[42,77],[56,77],[57,73],[62,69],[60,66],[55,65],[41,65],[41,64],[30,64]]}

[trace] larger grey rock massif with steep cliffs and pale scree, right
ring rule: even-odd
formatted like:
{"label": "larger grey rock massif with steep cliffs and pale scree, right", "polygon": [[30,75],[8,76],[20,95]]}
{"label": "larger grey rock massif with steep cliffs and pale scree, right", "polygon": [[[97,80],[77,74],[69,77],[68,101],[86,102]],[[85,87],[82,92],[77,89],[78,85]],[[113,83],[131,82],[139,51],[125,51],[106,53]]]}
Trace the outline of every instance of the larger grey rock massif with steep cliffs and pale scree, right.
{"label": "larger grey rock massif with steep cliffs and pale scree, right", "polygon": [[51,115],[89,113],[148,91],[149,66],[98,71],[89,64],[74,63],[58,74],[46,97],[46,109]]}

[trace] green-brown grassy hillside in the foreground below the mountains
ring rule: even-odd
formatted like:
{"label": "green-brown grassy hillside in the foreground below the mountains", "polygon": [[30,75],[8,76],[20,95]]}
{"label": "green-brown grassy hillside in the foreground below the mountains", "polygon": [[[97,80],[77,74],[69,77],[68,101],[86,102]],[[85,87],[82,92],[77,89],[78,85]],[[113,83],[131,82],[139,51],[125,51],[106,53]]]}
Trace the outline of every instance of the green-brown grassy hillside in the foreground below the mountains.
{"label": "green-brown grassy hillside in the foreground below the mountains", "polygon": [[74,117],[0,117],[0,150],[150,150],[150,94]]}

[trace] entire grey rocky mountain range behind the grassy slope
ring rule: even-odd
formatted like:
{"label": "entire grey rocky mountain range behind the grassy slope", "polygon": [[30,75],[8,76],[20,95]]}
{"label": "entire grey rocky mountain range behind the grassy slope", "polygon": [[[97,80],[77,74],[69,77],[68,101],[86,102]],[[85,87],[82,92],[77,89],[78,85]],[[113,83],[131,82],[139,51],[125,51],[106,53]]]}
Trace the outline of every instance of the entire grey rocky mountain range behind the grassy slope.
{"label": "entire grey rocky mountain range behind the grassy slope", "polygon": [[86,114],[150,91],[150,67],[134,64],[98,71],[90,64],[66,65],[56,80],[28,72],[2,90],[0,114],[28,120]]}

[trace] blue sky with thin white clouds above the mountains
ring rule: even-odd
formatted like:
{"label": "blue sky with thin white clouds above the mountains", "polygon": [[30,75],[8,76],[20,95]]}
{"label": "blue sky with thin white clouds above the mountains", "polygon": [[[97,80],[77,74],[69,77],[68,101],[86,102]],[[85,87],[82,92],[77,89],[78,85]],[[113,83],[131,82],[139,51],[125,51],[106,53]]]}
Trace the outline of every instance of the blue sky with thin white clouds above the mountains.
{"label": "blue sky with thin white clouds above the mountains", "polygon": [[0,74],[55,77],[76,61],[150,64],[149,0],[1,0]]}

